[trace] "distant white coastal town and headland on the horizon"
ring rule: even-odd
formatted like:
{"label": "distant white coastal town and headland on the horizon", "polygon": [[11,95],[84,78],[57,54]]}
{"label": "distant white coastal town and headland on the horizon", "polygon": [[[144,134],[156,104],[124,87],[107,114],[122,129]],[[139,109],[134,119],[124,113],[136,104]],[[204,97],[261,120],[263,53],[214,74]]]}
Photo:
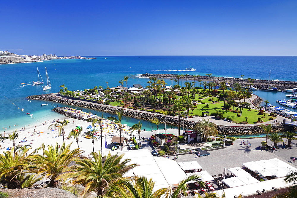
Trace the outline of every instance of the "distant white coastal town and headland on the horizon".
{"label": "distant white coastal town and headland on the horizon", "polygon": [[53,60],[53,59],[94,59],[94,58],[85,58],[81,56],[56,56],[56,54],[17,55],[8,51],[0,51],[0,64],[37,62],[42,60]]}

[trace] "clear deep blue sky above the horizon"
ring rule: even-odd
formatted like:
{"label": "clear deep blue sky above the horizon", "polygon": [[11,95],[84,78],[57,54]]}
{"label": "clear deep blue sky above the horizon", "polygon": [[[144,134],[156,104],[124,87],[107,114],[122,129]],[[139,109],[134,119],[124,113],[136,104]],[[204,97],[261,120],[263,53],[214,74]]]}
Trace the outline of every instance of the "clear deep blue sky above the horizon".
{"label": "clear deep blue sky above the horizon", "polygon": [[297,55],[297,1],[3,1],[0,51]]}

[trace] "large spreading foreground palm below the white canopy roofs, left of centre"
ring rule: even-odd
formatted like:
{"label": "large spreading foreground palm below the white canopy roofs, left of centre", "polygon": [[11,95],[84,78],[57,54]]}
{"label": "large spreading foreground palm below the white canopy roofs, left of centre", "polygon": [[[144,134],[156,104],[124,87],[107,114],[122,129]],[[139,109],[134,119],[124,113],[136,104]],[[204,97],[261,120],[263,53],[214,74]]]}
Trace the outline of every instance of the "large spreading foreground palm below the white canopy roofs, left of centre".
{"label": "large spreading foreground palm below the white canopy roofs, left of centre", "polygon": [[123,159],[124,154],[117,156],[109,153],[105,161],[99,152],[92,152],[91,155],[94,160],[78,159],[74,167],[75,172],[65,174],[67,178],[73,178],[74,185],[81,184],[85,187],[83,195],[95,191],[98,197],[102,197],[110,183],[138,166],[129,164],[131,159]]}

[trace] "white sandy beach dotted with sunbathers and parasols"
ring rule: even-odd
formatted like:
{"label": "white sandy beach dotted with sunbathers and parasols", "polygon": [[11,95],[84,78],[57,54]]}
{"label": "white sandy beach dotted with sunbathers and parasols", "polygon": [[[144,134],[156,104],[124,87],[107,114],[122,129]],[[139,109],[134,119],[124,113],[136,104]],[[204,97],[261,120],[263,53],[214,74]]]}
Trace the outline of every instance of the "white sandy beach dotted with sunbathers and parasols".
{"label": "white sandy beach dotted with sunbathers and parasols", "polygon": [[[66,135],[64,136],[65,138],[68,137],[69,132],[72,129],[75,129],[76,126],[83,127],[83,131],[82,131],[82,134],[83,134],[84,131],[89,130],[86,127],[88,127],[91,124],[91,122],[86,122],[86,121],[78,120],[78,119],[72,119],[72,118],[65,117],[63,115],[60,115],[59,117],[57,117],[57,119],[58,118],[61,120],[63,120],[64,118],[69,120],[68,125],[64,127],[64,131],[66,133]],[[55,145],[56,142],[58,142],[59,145],[61,145],[63,143],[63,137],[62,136],[59,137],[57,130],[51,131],[48,129],[48,127],[51,124],[55,123],[55,122],[53,122],[53,120],[49,120],[49,121],[50,121],[50,123],[48,123],[48,120],[46,120],[45,125],[42,125],[42,124],[36,125],[37,133],[34,133],[35,125],[26,126],[25,130],[20,130],[20,128],[22,128],[22,126],[20,126],[17,130],[19,138],[15,140],[16,145],[21,144],[21,145],[25,146],[28,144],[28,145],[32,146],[31,151],[40,147],[42,145],[42,143],[44,143],[46,145],[51,145],[51,144]],[[73,121],[74,121],[74,123],[73,123]],[[125,124],[125,123],[123,123],[123,124]],[[130,127],[128,127],[128,128],[130,128]],[[126,128],[126,130],[128,128]],[[39,131],[41,132],[40,134],[38,134]],[[105,131],[105,130],[103,130],[103,131]],[[167,131],[167,133],[172,133],[175,135],[177,134],[176,129],[167,129],[166,131]],[[9,129],[5,130],[5,136],[7,137],[8,134],[12,133],[12,132],[13,132],[13,130],[9,130]],[[160,132],[163,133],[164,130],[159,130],[159,133]],[[3,134],[3,132],[1,132],[1,133]],[[98,133],[100,133],[100,131],[98,131]],[[154,130],[154,134],[156,134],[156,133],[157,133],[157,130]],[[40,136],[38,136],[38,135],[40,135]],[[113,135],[119,136],[119,132],[118,133],[113,132]],[[145,137],[147,139],[151,135],[152,135],[151,131],[142,131],[140,133],[140,138]],[[103,136],[102,153],[104,155],[108,154],[108,152],[116,154],[119,150],[116,150],[116,151],[110,150],[110,143],[111,143],[111,139],[112,139],[112,137],[110,136],[110,133],[104,132],[102,134],[102,136]],[[127,133],[125,131],[122,131],[122,136],[130,138],[129,133]],[[105,148],[105,137],[106,137],[106,141],[107,141],[107,145],[108,145],[107,149]],[[136,137],[136,139],[138,141],[138,132],[136,132],[136,131],[133,132],[132,137]],[[90,154],[93,151],[92,140],[84,138],[84,137],[80,137],[79,139],[81,140],[81,141],[79,141],[79,147],[85,151],[85,153],[83,153],[83,155],[87,156],[88,154]],[[24,140],[25,142],[20,143],[22,140]],[[27,142],[26,142],[26,140],[27,140]],[[66,144],[69,144],[72,142],[71,149],[77,148],[77,142],[75,141],[74,138],[65,140],[65,142],[66,142]],[[143,140],[140,140],[140,142],[143,142]],[[30,143],[32,143],[32,144],[30,144]],[[7,140],[4,140],[4,142],[1,142],[0,146],[2,146],[0,149],[0,154],[2,154],[6,150],[7,147],[10,148],[13,145],[12,145],[12,141],[7,139]],[[100,139],[95,140],[95,142],[94,142],[95,152],[100,151],[100,148],[101,148],[101,140]],[[123,148],[123,151],[128,151],[127,146],[125,146]]]}

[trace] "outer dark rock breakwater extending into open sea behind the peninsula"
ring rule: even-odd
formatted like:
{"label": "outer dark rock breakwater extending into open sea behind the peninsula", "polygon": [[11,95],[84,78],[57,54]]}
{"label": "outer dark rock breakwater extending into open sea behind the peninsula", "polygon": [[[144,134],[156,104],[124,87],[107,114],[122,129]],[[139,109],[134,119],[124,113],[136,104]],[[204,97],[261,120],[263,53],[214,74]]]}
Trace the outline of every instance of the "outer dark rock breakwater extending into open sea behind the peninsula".
{"label": "outer dark rock breakwater extending into open sea behind the peninsula", "polygon": [[[154,78],[175,78],[176,76],[180,76],[179,74],[141,74],[141,76],[145,77],[154,77]],[[179,77],[181,78],[181,77]],[[186,77],[184,77],[186,79]],[[187,76],[188,80],[201,80],[201,81],[212,81],[215,83],[219,83],[222,81],[229,82],[229,84],[232,86],[234,83],[240,83],[241,86],[248,86],[249,82],[247,79],[241,79],[241,78],[225,78],[225,77],[217,77],[217,76],[199,76],[199,77],[193,77],[191,75]],[[279,90],[285,90],[285,89],[293,89],[297,88],[297,82],[293,81],[268,81],[268,80],[253,80],[252,82],[254,87],[256,88],[262,88],[267,87],[269,83],[269,87],[276,87]]]}

